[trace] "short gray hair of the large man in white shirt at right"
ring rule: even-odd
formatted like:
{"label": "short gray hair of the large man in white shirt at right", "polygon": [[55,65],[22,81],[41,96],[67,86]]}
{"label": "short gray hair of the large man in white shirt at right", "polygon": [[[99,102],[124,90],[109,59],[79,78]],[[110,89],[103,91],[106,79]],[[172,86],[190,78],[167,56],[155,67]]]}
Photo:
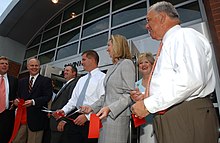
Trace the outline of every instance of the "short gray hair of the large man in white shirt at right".
{"label": "short gray hair of the large man in white shirt at right", "polygon": [[177,12],[177,10],[175,9],[175,7],[166,1],[161,1],[161,2],[157,2],[154,5],[152,5],[148,11],[154,10],[158,13],[160,12],[164,12],[166,13],[170,18],[173,19],[179,19],[179,14]]}

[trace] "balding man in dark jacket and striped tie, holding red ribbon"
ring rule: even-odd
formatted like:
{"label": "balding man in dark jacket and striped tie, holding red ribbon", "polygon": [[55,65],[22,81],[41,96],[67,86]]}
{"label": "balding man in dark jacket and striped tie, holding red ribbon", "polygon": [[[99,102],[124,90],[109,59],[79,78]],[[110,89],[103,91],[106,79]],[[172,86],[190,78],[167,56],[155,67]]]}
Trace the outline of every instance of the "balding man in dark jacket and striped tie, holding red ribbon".
{"label": "balding man in dark jacket and striped tie, holding red ribbon", "polygon": [[18,97],[25,100],[23,106],[27,109],[27,124],[20,126],[13,143],[26,143],[26,137],[27,143],[41,143],[45,124],[48,123],[47,113],[41,110],[47,107],[52,97],[51,79],[39,74],[40,61],[36,58],[28,59],[27,69],[30,76],[19,80],[18,84]]}

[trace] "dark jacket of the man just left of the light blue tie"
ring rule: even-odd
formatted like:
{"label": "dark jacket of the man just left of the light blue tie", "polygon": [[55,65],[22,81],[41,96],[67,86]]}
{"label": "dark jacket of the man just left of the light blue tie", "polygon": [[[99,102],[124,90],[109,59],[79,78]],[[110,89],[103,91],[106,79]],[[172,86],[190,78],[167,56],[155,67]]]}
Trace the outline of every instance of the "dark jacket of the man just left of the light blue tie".
{"label": "dark jacket of the man just left of the light blue tie", "polygon": [[[51,110],[54,111],[57,109],[61,109],[64,105],[66,105],[66,103],[72,96],[73,89],[75,88],[78,79],[79,77],[76,77],[74,80],[69,82],[68,85],[66,85],[64,89],[62,89],[61,92],[59,92],[59,94],[56,96],[56,98],[52,102]],[[56,121],[55,118],[53,117],[50,118],[50,128],[52,131],[57,131],[58,123],[59,122]]]}

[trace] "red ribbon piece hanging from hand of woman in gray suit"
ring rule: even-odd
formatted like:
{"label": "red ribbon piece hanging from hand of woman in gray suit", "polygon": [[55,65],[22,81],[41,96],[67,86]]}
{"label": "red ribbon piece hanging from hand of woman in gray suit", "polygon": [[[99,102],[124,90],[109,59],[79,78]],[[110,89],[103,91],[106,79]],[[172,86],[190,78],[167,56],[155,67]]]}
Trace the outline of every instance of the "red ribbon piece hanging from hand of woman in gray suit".
{"label": "red ribbon piece hanging from hand of woman in gray suit", "polygon": [[99,130],[102,128],[102,123],[96,114],[90,115],[89,134],[88,138],[99,138]]}

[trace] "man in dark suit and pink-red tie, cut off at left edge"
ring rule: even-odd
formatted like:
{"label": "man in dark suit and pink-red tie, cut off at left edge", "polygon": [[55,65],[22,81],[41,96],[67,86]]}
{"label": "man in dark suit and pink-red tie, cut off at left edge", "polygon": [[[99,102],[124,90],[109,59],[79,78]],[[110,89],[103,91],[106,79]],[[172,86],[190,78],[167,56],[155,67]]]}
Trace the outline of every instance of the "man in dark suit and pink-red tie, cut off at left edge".
{"label": "man in dark suit and pink-red tie, cut off at left edge", "polygon": [[[12,101],[16,98],[18,83],[17,78],[7,74],[8,67],[8,58],[0,56],[0,82],[3,78],[4,82],[2,82],[2,84],[4,84],[6,91],[6,98],[4,100],[0,98],[0,104],[4,104],[4,109],[0,111],[0,143],[8,143],[15,119],[15,109],[13,108]],[[1,83],[0,88],[1,90],[3,89]],[[0,96],[3,96],[1,92]]]}

